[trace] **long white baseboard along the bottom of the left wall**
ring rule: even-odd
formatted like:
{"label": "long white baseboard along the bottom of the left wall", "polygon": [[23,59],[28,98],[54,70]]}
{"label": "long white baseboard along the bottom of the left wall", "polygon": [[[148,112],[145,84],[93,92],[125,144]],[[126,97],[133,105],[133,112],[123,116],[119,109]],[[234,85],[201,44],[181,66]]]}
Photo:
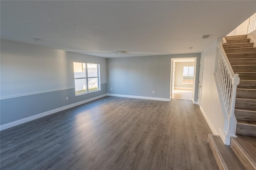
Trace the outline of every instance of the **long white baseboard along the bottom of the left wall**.
{"label": "long white baseboard along the bottom of the left wall", "polygon": [[14,126],[17,126],[17,125],[20,125],[22,123],[26,123],[26,122],[29,122],[29,121],[33,121],[35,119],[38,119],[38,118],[41,118],[41,117],[44,117],[44,116],[47,116],[47,115],[51,115],[53,113],[57,113],[59,111],[63,111],[63,110],[66,110],[66,109],[69,109],[71,107],[75,107],[75,106],[78,106],[78,105],[82,105],[84,103],[87,103],[87,102],[90,102],[90,101],[93,101],[93,100],[96,100],[96,99],[100,99],[102,97],[105,97],[107,94],[104,94],[104,95],[100,95],[100,96],[97,96],[97,97],[93,97],[91,99],[87,99],[87,100],[84,100],[84,101],[80,101],[80,102],[77,102],[77,103],[73,103],[71,105],[66,105],[66,106],[63,106],[63,107],[59,107],[57,109],[53,109],[51,111],[47,111],[47,112],[44,112],[44,113],[39,113],[37,115],[34,115],[34,116],[30,116],[30,117],[26,117],[24,119],[20,119],[18,121],[14,121],[14,122],[11,122],[11,123],[6,123],[4,125],[1,125],[0,126],[0,130],[4,130],[4,129],[7,129],[7,128],[11,128],[11,127],[14,127]]}

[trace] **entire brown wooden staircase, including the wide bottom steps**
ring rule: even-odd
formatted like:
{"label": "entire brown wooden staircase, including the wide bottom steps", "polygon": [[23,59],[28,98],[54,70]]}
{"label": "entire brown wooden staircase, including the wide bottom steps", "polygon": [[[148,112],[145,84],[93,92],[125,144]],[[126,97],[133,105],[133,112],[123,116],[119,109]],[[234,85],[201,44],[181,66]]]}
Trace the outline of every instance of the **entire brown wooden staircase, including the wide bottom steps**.
{"label": "entire brown wooden staircase, including the wide bottom steps", "polygon": [[236,92],[237,138],[224,145],[220,136],[209,134],[208,142],[222,170],[256,170],[256,47],[247,35],[225,37],[222,45],[240,84]]}

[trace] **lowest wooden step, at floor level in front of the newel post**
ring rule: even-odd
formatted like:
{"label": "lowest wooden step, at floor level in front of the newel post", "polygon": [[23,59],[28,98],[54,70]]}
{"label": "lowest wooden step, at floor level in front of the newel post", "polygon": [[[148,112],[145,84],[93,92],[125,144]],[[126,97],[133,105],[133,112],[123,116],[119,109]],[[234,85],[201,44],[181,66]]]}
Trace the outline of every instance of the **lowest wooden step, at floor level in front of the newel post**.
{"label": "lowest wooden step, at floor level in front of the newel post", "polygon": [[220,136],[209,134],[208,142],[219,169],[245,169],[236,154],[232,151],[232,148],[228,145],[224,145]]}

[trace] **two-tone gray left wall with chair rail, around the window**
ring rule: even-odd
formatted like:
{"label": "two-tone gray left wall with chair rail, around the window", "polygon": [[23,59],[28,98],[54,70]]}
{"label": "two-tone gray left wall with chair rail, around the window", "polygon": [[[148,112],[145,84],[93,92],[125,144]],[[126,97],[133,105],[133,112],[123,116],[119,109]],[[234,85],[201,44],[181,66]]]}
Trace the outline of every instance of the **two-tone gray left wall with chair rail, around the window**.
{"label": "two-tone gray left wall with chair rail, around the window", "polygon": [[[74,61],[100,64],[101,91],[75,96]],[[102,57],[1,40],[0,66],[0,125],[106,94]]]}

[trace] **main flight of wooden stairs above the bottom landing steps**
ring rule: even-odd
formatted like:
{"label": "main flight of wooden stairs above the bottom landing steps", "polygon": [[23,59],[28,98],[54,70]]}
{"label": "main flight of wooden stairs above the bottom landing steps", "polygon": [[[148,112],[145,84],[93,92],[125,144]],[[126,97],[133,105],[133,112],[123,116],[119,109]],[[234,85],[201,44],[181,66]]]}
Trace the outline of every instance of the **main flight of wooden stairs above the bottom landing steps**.
{"label": "main flight of wooden stairs above the bottom landing steps", "polygon": [[236,134],[256,136],[256,47],[247,35],[225,37],[223,48],[240,84],[236,92]]}

